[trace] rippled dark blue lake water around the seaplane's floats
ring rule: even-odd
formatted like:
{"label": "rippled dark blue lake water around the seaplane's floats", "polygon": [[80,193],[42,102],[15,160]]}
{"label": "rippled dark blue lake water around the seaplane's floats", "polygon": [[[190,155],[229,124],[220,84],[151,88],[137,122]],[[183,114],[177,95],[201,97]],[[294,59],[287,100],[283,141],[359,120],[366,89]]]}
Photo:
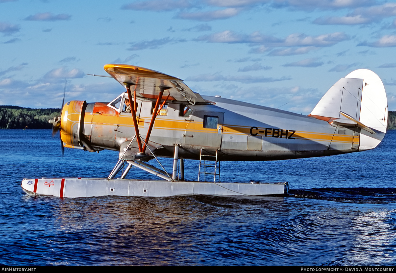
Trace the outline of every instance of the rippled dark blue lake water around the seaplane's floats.
{"label": "rippled dark blue lake water around the seaplane's floats", "polygon": [[[51,130],[0,130],[0,264],[396,265],[395,143],[390,130],[360,153],[221,162],[222,181],[288,181],[293,197],[60,199],[21,180],[107,177],[118,153],[62,157]],[[185,172],[196,180],[198,162]]]}

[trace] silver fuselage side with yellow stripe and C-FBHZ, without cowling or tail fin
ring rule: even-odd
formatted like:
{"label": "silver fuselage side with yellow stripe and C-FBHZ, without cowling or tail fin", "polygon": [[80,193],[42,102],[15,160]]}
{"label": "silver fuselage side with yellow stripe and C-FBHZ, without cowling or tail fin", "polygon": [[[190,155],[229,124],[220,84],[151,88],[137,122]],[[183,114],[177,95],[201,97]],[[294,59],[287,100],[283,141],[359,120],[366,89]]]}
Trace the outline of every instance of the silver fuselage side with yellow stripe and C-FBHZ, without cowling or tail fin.
{"label": "silver fuselage side with yellow stripe and C-FBHZ, without cowling or tail fin", "polygon": [[[188,116],[181,116],[183,105],[168,103],[164,114],[157,116],[150,136],[149,147],[156,155],[173,157],[174,145],[179,145],[179,157],[190,159],[199,159],[201,148],[208,152],[220,149],[221,160],[318,157],[358,151],[360,135],[369,134],[353,124],[337,127],[310,116],[221,97],[204,99],[215,104],[188,105],[192,110]],[[94,149],[119,151],[122,143],[135,135],[135,129],[131,113],[122,111],[121,106],[113,108],[107,103],[88,103],[80,115],[75,115],[75,127],[82,130],[74,130],[70,137],[76,139],[75,134],[82,134]],[[141,135],[148,130],[151,109],[151,101],[137,100]],[[216,118],[217,124],[204,128],[208,117]],[[382,139],[381,134],[377,137]],[[137,147],[135,142],[131,147]],[[75,143],[78,147],[78,141]]]}

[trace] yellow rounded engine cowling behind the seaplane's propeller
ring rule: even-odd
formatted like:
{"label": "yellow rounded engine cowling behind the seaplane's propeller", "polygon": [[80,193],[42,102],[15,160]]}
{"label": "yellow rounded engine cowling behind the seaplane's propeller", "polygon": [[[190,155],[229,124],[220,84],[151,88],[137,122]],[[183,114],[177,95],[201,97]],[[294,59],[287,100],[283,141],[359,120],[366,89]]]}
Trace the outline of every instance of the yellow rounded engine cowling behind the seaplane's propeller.
{"label": "yellow rounded engine cowling behind the seaplane's propeller", "polygon": [[84,149],[80,136],[84,128],[86,101],[69,101],[61,113],[61,139],[64,147]]}

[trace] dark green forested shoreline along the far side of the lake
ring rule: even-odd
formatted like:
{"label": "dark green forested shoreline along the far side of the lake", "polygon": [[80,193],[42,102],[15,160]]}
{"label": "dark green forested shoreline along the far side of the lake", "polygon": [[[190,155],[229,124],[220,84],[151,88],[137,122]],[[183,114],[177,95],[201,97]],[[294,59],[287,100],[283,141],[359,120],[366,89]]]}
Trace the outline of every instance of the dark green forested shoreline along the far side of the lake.
{"label": "dark green forested shoreline along the far side of the lake", "polygon": [[[48,120],[59,116],[61,109],[32,109],[0,105],[0,129],[51,129]],[[396,129],[396,111],[388,111],[388,129]]]}

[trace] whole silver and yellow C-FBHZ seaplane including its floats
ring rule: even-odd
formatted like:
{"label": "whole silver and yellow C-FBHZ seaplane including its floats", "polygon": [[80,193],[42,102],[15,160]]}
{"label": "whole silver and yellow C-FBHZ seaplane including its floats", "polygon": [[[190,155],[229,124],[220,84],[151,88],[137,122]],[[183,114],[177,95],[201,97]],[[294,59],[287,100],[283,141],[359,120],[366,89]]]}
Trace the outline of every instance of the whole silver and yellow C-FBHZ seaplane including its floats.
{"label": "whole silver and yellow C-FBHZ seaplane including its floats", "polygon": [[[28,195],[282,196],[287,182],[221,181],[220,162],[366,151],[386,134],[385,88],[368,69],[338,80],[309,115],[200,95],[179,78],[143,67],[107,64],[104,69],[123,86],[118,97],[109,103],[69,101],[50,122],[53,133],[60,132],[62,149],[117,151],[109,177],[23,179]],[[164,157],[173,158],[172,171],[160,163]],[[199,160],[196,181],[185,181],[184,159]],[[148,178],[127,178],[132,167]]]}

